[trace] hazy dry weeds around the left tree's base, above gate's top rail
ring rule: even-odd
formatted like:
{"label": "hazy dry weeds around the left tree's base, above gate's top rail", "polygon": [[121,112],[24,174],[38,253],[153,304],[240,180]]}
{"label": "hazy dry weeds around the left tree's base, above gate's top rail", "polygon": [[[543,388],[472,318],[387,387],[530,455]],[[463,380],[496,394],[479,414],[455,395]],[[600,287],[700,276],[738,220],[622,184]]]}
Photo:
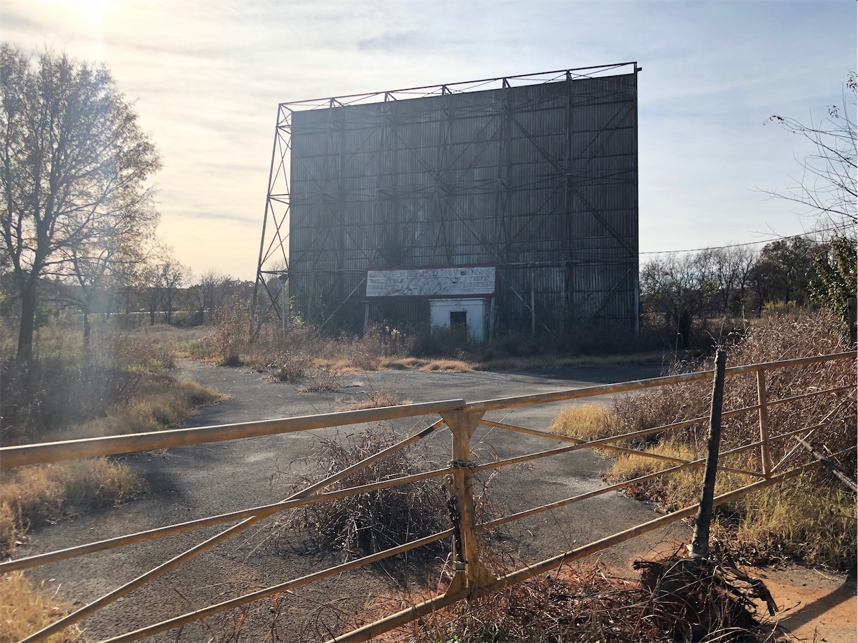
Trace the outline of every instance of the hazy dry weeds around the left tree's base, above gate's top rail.
{"label": "hazy dry weeds around the left tree's base, above gate's top rail", "polygon": [[[170,375],[172,342],[187,334],[162,327],[114,332],[99,326],[91,350],[83,352],[73,329],[43,329],[32,364],[2,356],[3,443],[45,442],[60,434],[73,437],[75,431],[83,436],[89,429],[89,435],[158,430],[193,414],[193,406],[220,400]],[[140,400],[150,408],[136,408]],[[129,428],[111,429],[112,424]]]}

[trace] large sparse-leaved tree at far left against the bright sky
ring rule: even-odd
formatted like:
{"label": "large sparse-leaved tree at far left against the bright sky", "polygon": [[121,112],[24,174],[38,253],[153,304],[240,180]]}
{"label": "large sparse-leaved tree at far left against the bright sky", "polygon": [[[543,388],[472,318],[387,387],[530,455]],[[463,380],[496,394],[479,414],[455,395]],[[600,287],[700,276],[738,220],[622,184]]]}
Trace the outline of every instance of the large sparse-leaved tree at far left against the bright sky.
{"label": "large sparse-leaved tree at far left against the bright sky", "polygon": [[104,65],[50,51],[33,65],[3,44],[0,90],[3,261],[21,298],[17,355],[28,359],[39,279],[72,272],[71,257],[92,257],[89,244],[120,228],[154,225],[145,182],[160,160]]}

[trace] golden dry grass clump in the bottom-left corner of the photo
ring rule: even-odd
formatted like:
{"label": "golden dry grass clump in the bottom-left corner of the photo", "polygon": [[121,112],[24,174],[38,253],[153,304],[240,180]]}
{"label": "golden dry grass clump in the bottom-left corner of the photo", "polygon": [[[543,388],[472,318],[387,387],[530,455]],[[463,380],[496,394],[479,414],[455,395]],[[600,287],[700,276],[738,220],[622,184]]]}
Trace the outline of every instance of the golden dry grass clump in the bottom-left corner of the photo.
{"label": "golden dry grass clump in the bottom-left corner of the photo", "polygon": [[[0,578],[0,643],[15,643],[64,616],[68,606],[45,592],[22,572]],[[76,625],[45,639],[48,643],[85,643]]]}

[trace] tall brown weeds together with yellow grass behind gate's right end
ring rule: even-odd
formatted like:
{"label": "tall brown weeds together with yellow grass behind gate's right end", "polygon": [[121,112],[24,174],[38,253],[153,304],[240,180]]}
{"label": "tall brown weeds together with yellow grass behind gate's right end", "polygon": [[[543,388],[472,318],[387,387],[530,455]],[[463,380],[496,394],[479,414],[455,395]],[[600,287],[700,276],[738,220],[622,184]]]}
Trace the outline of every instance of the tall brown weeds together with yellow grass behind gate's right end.
{"label": "tall brown weeds together with yellow grass behind gate's right end", "polygon": [[[818,312],[760,320],[752,325],[743,341],[728,346],[728,366],[759,364],[792,358],[825,355],[848,350],[831,313]],[[702,364],[680,364],[676,371],[711,368],[710,360]],[[773,464],[782,469],[815,462],[794,437],[778,438],[827,421],[810,439],[837,454],[834,460],[855,477],[856,432],[855,359],[841,359],[807,364],[765,374],[769,402],[788,400],[802,394],[843,390],[819,394],[812,398],[789,400],[770,406],[769,432]],[[613,407],[615,420],[601,434],[627,433],[671,424],[691,418],[708,418],[711,382],[685,382],[680,385],[649,389],[617,400]],[[743,374],[727,378],[724,389],[724,411],[757,405],[756,376]],[[704,420],[691,427],[650,434],[631,442],[654,454],[683,460],[705,458],[707,424]],[[759,440],[756,408],[728,416],[722,422],[721,450],[726,451]],[[598,436],[601,436],[598,435]],[[806,434],[800,434],[806,435]],[[738,469],[761,471],[760,448],[722,456],[719,464]],[[661,471],[670,463],[637,455],[622,455],[615,461],[613,478],[631,479]],[[636,497],[660,502],[675,509],[698,502],[703,472],[690,469],[669,477],[658,478],[631,489]],[[757,478],[744,474],[719,472],[716,493],[750,484]],[[856,528],[855,496],[825,470],[803,475],[770,489],[745,496],[716,510],[716,519],[724,538],[738,548],[737,556],[747,562],[763,564],[772,559],[790,557],[833,568],[854,568]]]}

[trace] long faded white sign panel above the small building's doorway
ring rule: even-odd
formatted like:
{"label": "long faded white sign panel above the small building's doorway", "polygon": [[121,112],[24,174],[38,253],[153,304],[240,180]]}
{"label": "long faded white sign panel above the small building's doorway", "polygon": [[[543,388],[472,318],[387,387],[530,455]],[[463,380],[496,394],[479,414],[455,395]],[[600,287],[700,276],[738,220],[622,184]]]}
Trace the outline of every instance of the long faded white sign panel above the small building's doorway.
{"label": "long faded white sign panel above the small building's doorway", "polygon": [[456,297],[494,294],[494,267],[368,270],[366,297]]}

